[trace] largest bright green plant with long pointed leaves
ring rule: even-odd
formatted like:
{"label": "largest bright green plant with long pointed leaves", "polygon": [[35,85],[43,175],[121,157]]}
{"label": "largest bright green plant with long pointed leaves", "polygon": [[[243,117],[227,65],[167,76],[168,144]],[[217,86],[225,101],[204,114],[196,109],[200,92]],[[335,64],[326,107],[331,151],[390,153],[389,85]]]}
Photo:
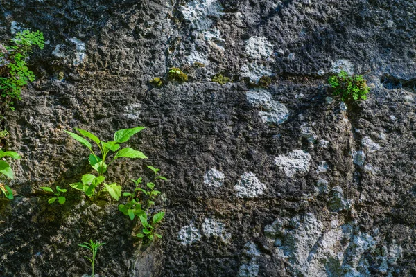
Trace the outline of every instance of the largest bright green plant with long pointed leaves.
{"label": "largest bright green plant with long pointed leaves", "polygon": [[[96,154],[94,150],[92,150],[91,143],[89,143],[89,141],[84,139],[82,136],[78,136],[78,134],[65,131],[73,139],[76,139],[76,141],[80,142],[82,145],[88,148],[89,152],[91,152],[91,154],[89,154],[89,164],[98,173],[98,176],[92,174],[85,174],[83,175],[80,182],[70,184],[70,186],[72,188],[76,188],[77,190],[82,190],[85,193],[85,195],[87,195],[92,200],[97,199],[103,192],[110,193],[112,198],[119,200],[119,197],[121,196],[121,186],[116,183],[106,184],[104,182],[104,174],[105,172],[107,172],[107,168],[116,159],[123,157],[131,159],[147,159],[147,157],[142,152],[134,150],[132,148],[123,148],[119,150],[120,143],[125,143],[130,139],[131,136],[137,134],[142,129],[145,129],[145,127],[121,129],[114,133],[114,141],[104,142],[98,139],[98,137],[94,134],[87,132],[83,129],[76,128],[76,130],[80,132],[82,136],[96,143],[100,154]],[[111,161],[107,164],[106,160],[110,152],[114,152],[114,156],[112,157]]]}

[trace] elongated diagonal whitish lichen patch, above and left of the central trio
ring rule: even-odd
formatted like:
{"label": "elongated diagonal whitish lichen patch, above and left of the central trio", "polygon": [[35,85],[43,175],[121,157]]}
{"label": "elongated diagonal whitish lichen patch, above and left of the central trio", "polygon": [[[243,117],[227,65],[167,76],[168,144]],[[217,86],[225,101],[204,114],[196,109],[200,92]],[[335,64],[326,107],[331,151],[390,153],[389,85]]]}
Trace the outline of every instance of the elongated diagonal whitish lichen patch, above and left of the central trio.
{"label": "elongated diagonal whitish lichen patch, above and left of the central trio", "polygon": [[259,111],[259,116],[263,123],[279,125],[289,117],[288,108],[284,104],[272,100],[272,96],[268,92],[248,91],[245,97],[252,107],[262,109]]}

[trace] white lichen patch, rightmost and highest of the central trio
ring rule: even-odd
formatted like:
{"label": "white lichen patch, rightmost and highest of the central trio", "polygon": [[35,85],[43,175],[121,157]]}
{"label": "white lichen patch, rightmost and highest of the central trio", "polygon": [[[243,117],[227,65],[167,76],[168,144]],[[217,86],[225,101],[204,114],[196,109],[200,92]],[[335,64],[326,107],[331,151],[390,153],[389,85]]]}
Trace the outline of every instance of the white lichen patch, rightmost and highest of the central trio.
{"label": "white lichen patch, rightmost and highest of the central trio", "polygon": [[311,154],[304,150],[293,150],[275,157],[275,165],[284,171],[287,177],[304,174],[311,167]]}

